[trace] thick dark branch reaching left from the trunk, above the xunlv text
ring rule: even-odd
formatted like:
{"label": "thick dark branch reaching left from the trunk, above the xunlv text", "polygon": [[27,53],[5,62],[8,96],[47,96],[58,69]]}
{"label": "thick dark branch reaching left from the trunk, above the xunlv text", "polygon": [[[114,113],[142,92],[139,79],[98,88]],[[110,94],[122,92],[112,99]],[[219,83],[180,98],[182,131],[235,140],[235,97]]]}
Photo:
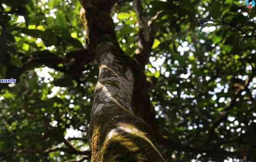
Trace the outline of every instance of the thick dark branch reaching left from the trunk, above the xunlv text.
{"label": "thick dark branch reaching left from the trunk, above the xunlv text", "polygon": [[[7,78],[17,78],[16,83],[18,83],[18,77],[24,73],[26,70],[34,69],[42,65],[47,65],[54,68],[55,70],[61,71],[66,74],[70,74],[74,78],[82,76],[82,71],[85,70],[84,66],[93,60],[91,52],[87,49],[81,49],[67,53],[64,58],[55,56],[48,50],[40,51],[39,53],[34,53],[34,57],[25,58],[22,60],[22,67],[13,66],[9,62],[5,62],[4,65],[7,66]],[[65,69],[58,67],[60,63],[70,63],[71,60],[75,60],[72,64],[72,69]],[[65,67],[65,66],[64,66]],[[1,84],[0,90],[8,88],[8,84]]]}

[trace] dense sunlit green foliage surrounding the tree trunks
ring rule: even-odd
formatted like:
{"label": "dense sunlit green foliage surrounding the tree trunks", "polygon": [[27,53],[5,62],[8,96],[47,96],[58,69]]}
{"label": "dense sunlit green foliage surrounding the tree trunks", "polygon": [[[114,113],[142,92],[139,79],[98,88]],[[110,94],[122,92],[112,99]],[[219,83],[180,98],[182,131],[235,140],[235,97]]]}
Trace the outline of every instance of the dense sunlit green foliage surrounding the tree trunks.
{"label": "dense sunlit green foliage surrounding the tree trunks", "polygon": [[[256,8],[245,0],[142,7],[155,31],[145,73],[166,160],[255,160]],[[1,162],[90,161],[98,65],[79,66],[87,34],[79,10],[78,0],[0,0],[0,79],[17,79],[0,84]],[[112,14],[120,47],[133,57],[132,1],[120,0]]]}

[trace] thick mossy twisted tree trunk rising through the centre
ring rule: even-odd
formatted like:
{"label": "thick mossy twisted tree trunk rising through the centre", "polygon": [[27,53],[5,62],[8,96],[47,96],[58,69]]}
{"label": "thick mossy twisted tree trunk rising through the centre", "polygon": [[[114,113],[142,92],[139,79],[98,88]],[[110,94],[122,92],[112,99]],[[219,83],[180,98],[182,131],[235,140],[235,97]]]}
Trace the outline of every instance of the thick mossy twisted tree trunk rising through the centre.
{"label": "thick mossy twisted tree trunk rising through the centre", "polygon": [[92,162],[164,162],[151,128],[131,107],[132,63],[116,41],[110,17],[115,0],[80,1],[87,48],[100,63],[90,121]]}

